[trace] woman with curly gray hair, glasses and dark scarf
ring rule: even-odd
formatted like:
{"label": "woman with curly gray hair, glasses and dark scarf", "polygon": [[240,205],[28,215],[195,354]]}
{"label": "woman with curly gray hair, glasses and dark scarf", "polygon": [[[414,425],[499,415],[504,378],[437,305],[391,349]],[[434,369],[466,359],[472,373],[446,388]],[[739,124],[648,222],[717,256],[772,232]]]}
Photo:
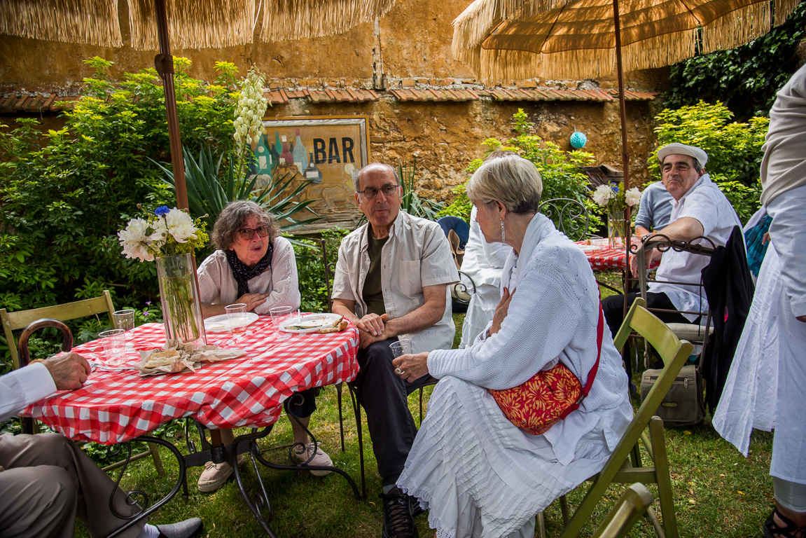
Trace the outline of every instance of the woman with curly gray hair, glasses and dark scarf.
{"label": "woman with curly gray hair, glasses and dark scarf", "polygon": [[[228,204],[215,220],[213,244],[216,251],[202,261],[197,271],[205,318],[224,314],[226,305],[237,302],[247,305],[247,311],[264,315],[273,307],[299,308],[294,249],[289,240],[280,237],[272,215],[263,207],[246,200]],[[310,415],[316,411],[316,391],[303,390],[288,398],[284,407],[286,413],[299,420],[291,419],[297,462],[310,459],[308,465],[331,466],[330,457],[306,432]],[[222,429],[221,439],[224,444],[231,444],[232,430]],[[239,456],[239,464],[242,459]],[[327,473],[330,471],[311,470],[316,476]],[[230,464],[208,461],[199,477],[198,489],[203,493],[218,490],[231,474]]]}

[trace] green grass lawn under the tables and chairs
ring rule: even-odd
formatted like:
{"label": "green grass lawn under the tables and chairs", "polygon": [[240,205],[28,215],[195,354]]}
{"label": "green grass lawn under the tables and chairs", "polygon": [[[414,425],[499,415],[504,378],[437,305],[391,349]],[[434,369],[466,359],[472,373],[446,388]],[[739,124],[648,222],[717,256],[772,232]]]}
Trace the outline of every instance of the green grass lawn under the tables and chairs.
{"label": "green grass lawn under the tables and chairs", "polygon": [[[609,275],[611,282],[617,276]],[[603,295],[605,290],[603,290]],[[460,334],[463,315],[455,315],[457,333]],[[457,343],[459,336],[457,336]],[[641,373],[634,380],[640,385]],[[349,396],[346,393],[347,400]],[[426,398],[430,387],[426,388]],[[344,404],[344,427],[346,451],[341,452],[339,443],[339,413],[334,387],[326,387],[317,399],[318,411],[311,420],[311,429],[322,441],[322,448],[333,458],[334,465],[344,469],[359,485],[359,453],[355,418],[350,404]],[[637,401],[634,405],[638,406]],[[418,420],[417,393],[409,398],[409,408]],[[246,429],[243,432],[247,432]],[[176,434],[176,444],[183,452],[183,434]],[[271,434],[261,441],[264,457],[285,463],[291,428],[285,417],[276,423]],[[280,447],[280,448],[272,448]],[[773,506],[772,480],[769,476],[772,452],[772,435],[754,432],[750,440],[750,457],[744,458],[732,445],[722,440],[710,425],[710,419],[697,427],[667,429],[672,488],[680,536],[721,536],[721,538],[744,538],[760,536],[761,524]],[[170,461],[168,452],[160,450],[173,477],[177,473],[176,462]],[[272,503],[271,526],[277,536],[294,538],[343,536],[372,537],[381,535],[380,478],[372,456],[368,430],[364,423],[364,456],[367,469],[367,494],[364,501],[356,501],[343,478],[331,473],[317,478],[308,472],[296,473],[260,469]],[[247,485],[255,490],[255,471],[247,462],[242,466]],[[203,536],[250,537],[266,536],[251,515],[235,482],[228,482],[213,494],[200,494],[196,481],[202,468],[189,469],[187,498],[181,492],[165,507],[152,515],[152,523],[172,523],[188,517],[201,517],[205,523]],[[150,460],[133,463],[123,477],[127,490],[143,490],[150,497],[161,496],[172,487],[172,478],[156,475]],[[611,487],[609,495],[588,523],[581,536],[591,536],[596,524],[605,518],[622,488]],[[656,493],[654,486],[650,490]],[[569,496],[571,510],[582,498],[580,490]],[[657,503],[656,503],[657,504]],[[659,512],[659,508],[658,508]],[[420,536],[434,536],[428,527],[426,515],[416,519]],[[562,529],[559,503],[546,510],[549,536],[558,536]],[[76,536],[89,536],[80,526]],[[639,521],[629,536],[655,536],[648,520]]]}

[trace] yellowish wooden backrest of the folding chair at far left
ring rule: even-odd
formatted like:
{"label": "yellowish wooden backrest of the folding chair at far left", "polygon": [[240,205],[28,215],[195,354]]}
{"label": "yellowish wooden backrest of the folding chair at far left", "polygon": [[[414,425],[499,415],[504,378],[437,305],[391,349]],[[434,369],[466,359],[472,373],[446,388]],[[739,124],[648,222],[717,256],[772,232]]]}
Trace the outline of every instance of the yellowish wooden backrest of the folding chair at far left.
{"label": "yellowish wooden backrest of the folding chair at far left", "polygon": [[3,333],[8,342],[11,353],[11,361],[15,369],[19,368],[19,353],[14,340],[14,331],[19,331],[39,319],[56,319],[64,322],[70,319],[85,318],[90,315],[106,313],[110,326],[114,327],[112,316],[114,305],[109,290],[104,290],[98,297],[84,299],[82,301],[67,302],[52,307],[34,308],[16,312],[8,312],[5,308],[0,308],[0,323],[2,323]]}

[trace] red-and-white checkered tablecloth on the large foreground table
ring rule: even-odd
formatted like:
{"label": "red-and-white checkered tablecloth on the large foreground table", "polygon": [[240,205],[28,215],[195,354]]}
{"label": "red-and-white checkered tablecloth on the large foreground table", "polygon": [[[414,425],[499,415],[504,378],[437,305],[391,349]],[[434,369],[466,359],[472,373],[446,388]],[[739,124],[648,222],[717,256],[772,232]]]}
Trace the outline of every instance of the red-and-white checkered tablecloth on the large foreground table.
{"label": "red-and-white checkered tablecloth on the large foreground table", "polygon": [[[128,334],[134,350],[160,348],[161,323],[147,323]],[[263,427],[276,422],[281,404],[291,394],[316,386],[355,379],[358,331],[326,335],[294,334],[278,341],[268,316],[247,327],[233,340],[228,332],[207,333],[208,344],[239,348],[246,355],[204,364],[195,373],[140,377],[135,369],[110,372],[96,369],[85,385],[62,391],[28,407],[25,414],[48,424],[73,440],[115,444],[152,432],[178,417],[193,417],[206,427]],[[85,357],[103,360],[98,340],[73,348]]]}

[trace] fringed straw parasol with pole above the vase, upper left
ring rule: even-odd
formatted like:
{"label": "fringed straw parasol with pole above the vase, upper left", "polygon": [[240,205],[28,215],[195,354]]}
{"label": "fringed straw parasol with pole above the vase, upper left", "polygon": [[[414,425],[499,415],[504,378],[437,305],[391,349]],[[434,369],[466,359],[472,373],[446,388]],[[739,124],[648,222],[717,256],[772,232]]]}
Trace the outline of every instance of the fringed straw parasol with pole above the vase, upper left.
{"label": "fringed straw parasol with pole above the vase, upper left", "polygon": [[121,47],[118,2],[127,2],[131,46],[159,50],[177,205],[187,208],[170,44],[221,48],[251,43],[263,11],[264,41],[338,34],[386,14],[394,0],[0,0],[0,34]]}

